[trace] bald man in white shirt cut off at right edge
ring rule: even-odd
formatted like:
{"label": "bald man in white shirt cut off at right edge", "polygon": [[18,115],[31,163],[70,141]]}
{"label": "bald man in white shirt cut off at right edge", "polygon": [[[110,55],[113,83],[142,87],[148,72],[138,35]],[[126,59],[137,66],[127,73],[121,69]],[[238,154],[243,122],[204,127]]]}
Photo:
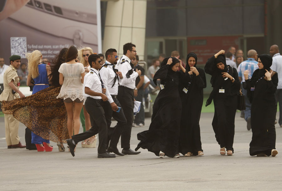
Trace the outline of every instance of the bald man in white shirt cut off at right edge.
{"label": "bald man in white shirt cut off at right edge", "polygon": [[278,86],[276,90],[276,100],[279,102],[279,120],[278,123],[282,127],[282,56],[279,53],[277,45],[270,46],[269,54],[272,56],[271,70],[278,73]]}

